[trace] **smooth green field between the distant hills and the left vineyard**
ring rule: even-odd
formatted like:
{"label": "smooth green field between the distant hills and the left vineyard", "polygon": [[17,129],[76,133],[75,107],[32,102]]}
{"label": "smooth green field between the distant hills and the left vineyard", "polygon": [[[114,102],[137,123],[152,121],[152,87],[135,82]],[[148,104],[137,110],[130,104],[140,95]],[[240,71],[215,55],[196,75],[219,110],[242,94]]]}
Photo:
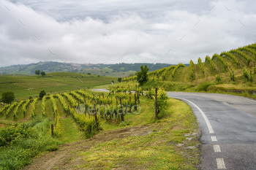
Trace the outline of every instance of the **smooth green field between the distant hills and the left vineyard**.
{"label": "smooth green field between the distant hills and the left vineyard", "polygon": [[0,76],[0,95],[4,91],[11,90],[18,101],[29,97],[36,97],[40,90],[47,93],[56,93],[79,88],[92,88],[96,85],[111,84],[117,82],[116,77],[98,77],[95,75],[76,73],[51,73],[47,76]]}

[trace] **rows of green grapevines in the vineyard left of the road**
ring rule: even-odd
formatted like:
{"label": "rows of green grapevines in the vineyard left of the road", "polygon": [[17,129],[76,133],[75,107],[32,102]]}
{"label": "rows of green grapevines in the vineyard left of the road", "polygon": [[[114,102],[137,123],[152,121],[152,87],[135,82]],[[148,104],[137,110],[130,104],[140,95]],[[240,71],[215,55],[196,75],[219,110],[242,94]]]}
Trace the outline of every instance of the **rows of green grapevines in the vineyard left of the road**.
{"label": "rows of green grapevines in the vineyard left of the road", "polygon": [[[113,88],[108,94],[94,93],[91,90],[72,90],[43,96],[42,99],[31,98],[8,104],[0,110],[0,116],[1,119],[14,121],[31,120],[37,116],[50,117],[54,120],[54,136],[61,136],[61,117],[71,116],[80,131],[94,134],[102,129],[100,127],[102,120],[118,123],[124,121],[125,115],[138,115],[140,96],[153,98],[154,90],[151,91],[146,92],[138,88],[136,93],[132,93],[129,87]],[[160,92],[161,100],[165,92],[162,90]],[[159,108],[162,107],[161,102],[165,101],[160,101]],[[57,103],[61,106],[57,106]]]}

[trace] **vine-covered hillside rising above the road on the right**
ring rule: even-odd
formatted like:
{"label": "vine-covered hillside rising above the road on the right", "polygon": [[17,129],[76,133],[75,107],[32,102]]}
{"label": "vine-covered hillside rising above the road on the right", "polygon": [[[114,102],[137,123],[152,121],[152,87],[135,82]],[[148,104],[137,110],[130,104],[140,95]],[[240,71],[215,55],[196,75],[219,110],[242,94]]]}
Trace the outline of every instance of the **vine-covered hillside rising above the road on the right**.
{"label": "vine-covered hillside rising above the road on the right", "polygon": [[[203,62],[204,60],[204,62]],[[144,88],[163,87],[176,91],[211,91],[219,93],[248,94],[256,93],[256,44],[239,47],[219,54],[214,54],[197,61],[190,61],[189,66],[180,63],[149,72],[149,81]],[[136,77],[124,79],[123,85],[135,87]]]}

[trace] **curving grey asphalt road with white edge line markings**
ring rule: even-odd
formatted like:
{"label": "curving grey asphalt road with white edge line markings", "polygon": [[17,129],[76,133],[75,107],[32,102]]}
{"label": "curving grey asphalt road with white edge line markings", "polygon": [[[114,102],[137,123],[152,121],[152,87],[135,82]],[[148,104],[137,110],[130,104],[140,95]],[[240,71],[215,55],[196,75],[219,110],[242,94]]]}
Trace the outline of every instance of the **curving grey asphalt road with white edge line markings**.
{"label": "curving grey asphalt road with white edge line markings", "polygon": [[193,109],[201,130],[200,169],[256,169],[256,101],[249,98],[168,92]]}

